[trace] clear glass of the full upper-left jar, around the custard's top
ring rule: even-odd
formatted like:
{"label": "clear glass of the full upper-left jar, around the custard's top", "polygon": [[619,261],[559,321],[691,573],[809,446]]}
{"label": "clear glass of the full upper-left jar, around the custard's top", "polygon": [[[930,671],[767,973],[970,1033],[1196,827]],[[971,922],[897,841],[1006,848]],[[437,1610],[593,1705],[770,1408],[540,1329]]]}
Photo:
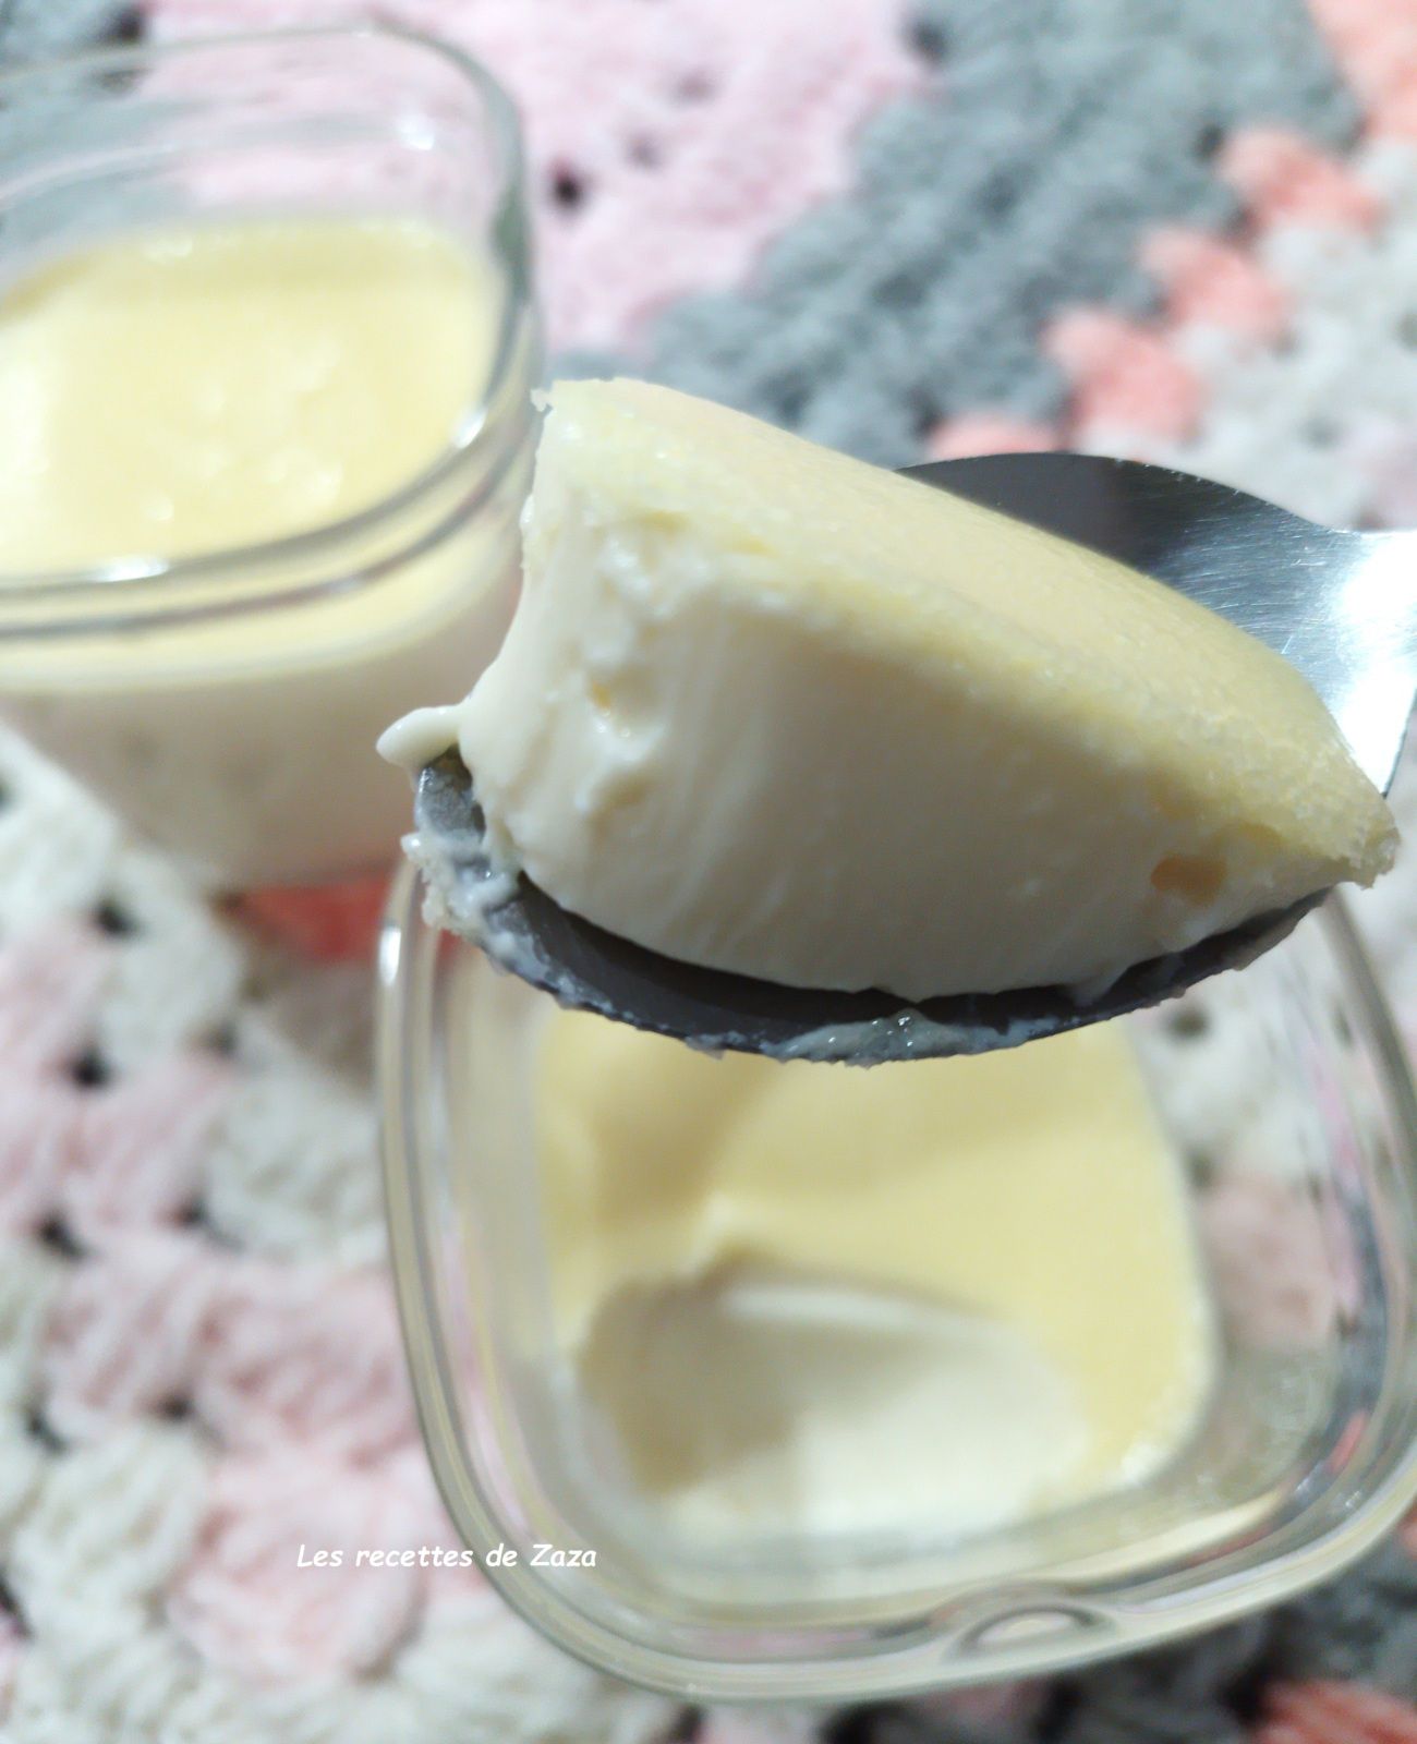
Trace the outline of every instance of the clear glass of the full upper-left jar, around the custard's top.
{"label": "clear glass of the full upper-left jar, around the custard's top", "polygon": [[410,813],[375,738],[462,696],[515,602],[539,349],[511,105],[370,26],[80,56],[2,78],[0,106],[7,281],[237,216],[417,220],[489,265],[490,366],[391,495],[241,549],[0,574],[0,717],[208,884],[382,870]]}

